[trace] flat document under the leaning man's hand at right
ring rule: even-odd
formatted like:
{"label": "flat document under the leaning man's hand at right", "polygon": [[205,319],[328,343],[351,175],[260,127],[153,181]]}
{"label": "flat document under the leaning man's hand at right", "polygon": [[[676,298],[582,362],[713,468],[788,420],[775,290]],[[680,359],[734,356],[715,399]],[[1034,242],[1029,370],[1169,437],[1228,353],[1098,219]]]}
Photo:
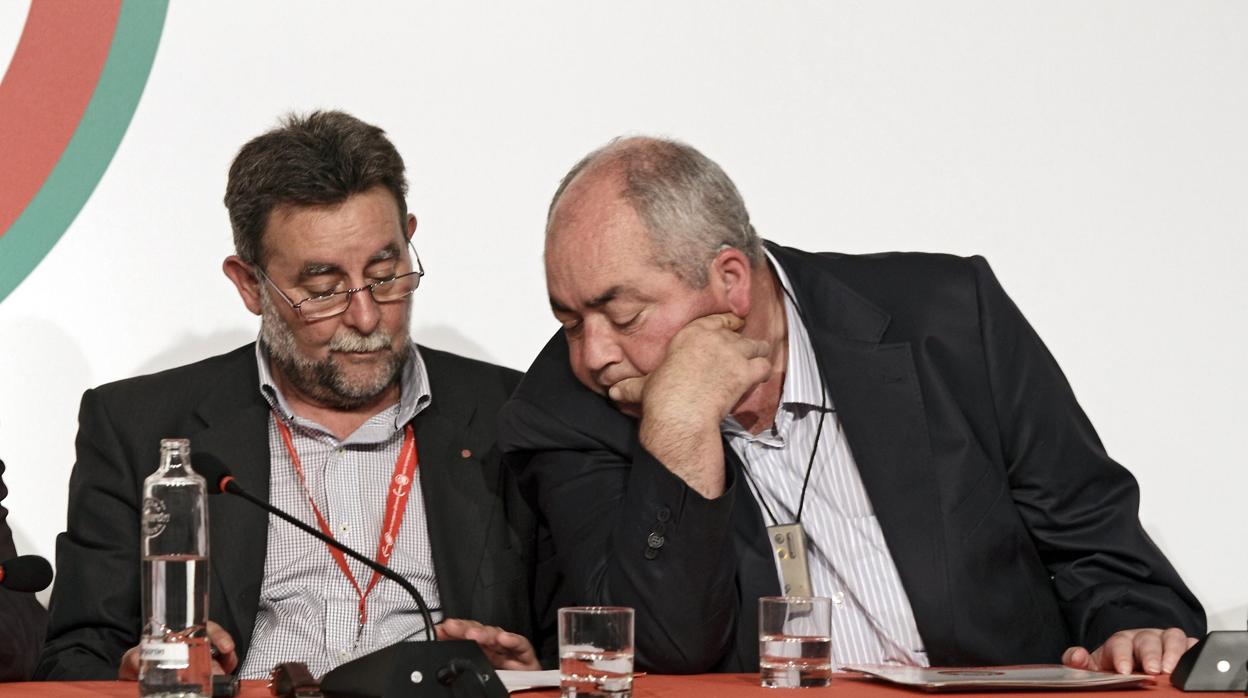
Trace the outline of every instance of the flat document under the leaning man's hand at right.
{"label": "flat document under the leaning man's hand at right", "polygon": [[1088,672],[1061,664],[932,668],[849,664],[841,669],[924,691],[1008,691],[1011,688],[1061,691],[1063,688],[1129,688],[1153,683],[1153,678],[1144,674]]}

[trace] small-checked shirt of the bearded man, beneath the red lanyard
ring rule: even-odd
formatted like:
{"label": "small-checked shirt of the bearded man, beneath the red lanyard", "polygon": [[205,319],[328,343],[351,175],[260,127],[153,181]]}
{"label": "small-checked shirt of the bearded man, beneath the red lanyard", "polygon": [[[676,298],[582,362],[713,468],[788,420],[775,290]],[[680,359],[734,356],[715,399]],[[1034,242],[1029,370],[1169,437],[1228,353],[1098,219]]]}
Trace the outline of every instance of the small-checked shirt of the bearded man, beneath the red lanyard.
{"label": "small-checked shirt of the bearded man, beneath the red lanyard", "polygon": [[[338,441],[321,425],[291,411],[272,380],[267,353],[260,342],[256,347],[260,391],[273,410],[268,417],[270,503],[316,527],[308,503],[311,493],[334,538],[366,556],[374,556],[387,487],[403,443],[403,427],[432,400],[424,360],[411,345],[399,402]],[[280,415],[291,430],[307,489],[295,471],[275,415]],[[431,608],[437,608],[441,602],[419,472],[417,467],[389,567],[407,578]],[[373,572],[351,558],[347,564],[361,588],[366,588]],[[377,582],[368,594],[368,622],[362,629],[358,603],[354,587],[324,543],[270,516],[260,611],[240,677],[266,678],[282,662],[303,662],[319,677],[338,664],[396,642],[423,639],[424,623],[416,602],[398,584],[384,578]],[[434,622],[439,618],[434,613]]]}

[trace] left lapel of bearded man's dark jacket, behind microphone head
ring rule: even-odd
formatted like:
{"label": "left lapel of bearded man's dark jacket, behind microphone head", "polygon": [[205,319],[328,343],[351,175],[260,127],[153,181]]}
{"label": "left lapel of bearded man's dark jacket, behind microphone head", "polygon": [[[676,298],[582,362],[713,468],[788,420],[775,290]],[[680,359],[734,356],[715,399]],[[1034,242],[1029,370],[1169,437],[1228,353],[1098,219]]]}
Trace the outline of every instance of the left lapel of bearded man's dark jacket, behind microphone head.
{"label": "left lapel of bearded man's dark jacket, behind microphone head", "polygon": [[[243,352],[247,366],[222,375],[222,387],[198,407],[207,428],[196,435],[193,453],[212,453],[226,463],[248,492],[268,499],[268,406],[260,396],[255,353]],[[193,462],[193,460],[192,460]],[[221,587],[225,609],[210,614],[233,622],[240,656],[251,644],[265,573],[268,514],[238,497],[208,499],[208,546],[212,576]]]}

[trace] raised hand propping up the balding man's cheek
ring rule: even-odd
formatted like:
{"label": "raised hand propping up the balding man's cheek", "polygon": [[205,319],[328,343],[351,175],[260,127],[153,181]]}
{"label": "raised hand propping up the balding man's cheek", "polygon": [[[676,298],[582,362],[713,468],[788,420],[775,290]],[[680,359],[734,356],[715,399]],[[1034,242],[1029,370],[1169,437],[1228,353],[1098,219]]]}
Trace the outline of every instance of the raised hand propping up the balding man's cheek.
{"label": "raised hand propping up the balding man's cheek", "polygon": [[733,313],[699,317],[676,332],[653,373],[609,391],[624,411],[640,407],[641,445],[706,498],[724,493],[719,422],[771,376],[771,347],[743,337],[744,325]]}

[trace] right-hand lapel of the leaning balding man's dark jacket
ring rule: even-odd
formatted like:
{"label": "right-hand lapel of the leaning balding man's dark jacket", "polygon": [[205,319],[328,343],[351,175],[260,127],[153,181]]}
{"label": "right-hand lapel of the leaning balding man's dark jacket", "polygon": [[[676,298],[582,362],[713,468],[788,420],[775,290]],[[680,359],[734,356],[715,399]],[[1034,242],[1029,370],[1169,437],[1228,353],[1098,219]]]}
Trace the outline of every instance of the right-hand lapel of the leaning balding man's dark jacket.
{"label": "right-hand lapel of the leaning balding man's dark jacket", "polygon": [[952,633],[940,491],[909,343],[880,343],[889,316],[816,268],[773,247],[806,311],[811,343],[927,647]]}

